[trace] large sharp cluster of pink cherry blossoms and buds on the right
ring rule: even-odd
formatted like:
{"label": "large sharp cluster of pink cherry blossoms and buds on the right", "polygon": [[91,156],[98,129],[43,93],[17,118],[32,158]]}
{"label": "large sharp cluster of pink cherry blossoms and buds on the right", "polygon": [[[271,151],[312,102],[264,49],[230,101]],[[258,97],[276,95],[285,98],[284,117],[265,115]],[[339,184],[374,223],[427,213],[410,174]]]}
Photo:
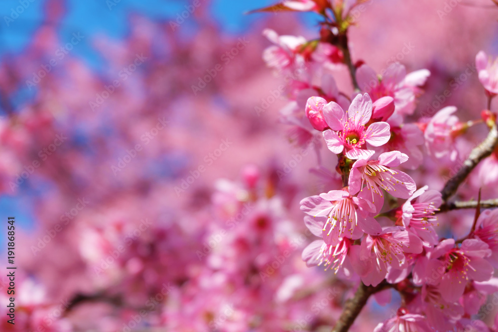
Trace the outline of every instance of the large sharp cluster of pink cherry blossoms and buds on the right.
{"label": "large sharp cluster of pink cherry blossoms and buds on the right", "polygon": [[[304,249],[303,260],[308,266],[334,270],[339,279],[360,279],[366,286],[397,290],[403,299],[400,309],[376,332],[454,331],[455,326],[489,331],[480,330],[484,323],[469,318],[477,314],[486,295],[498,290],[498,279],[493,278],[496,210],[476,215],[473,228],[461,240],[440,237],[440,229],[447,227],[439,227],[437,214],[442,205],[447,209],[448,197],[443,199],[441,192],[429,189],[430,184],[417,190],[414,178],[401,170],[422,165],[424,146],[427,158],[445,165],[456,163],[462,153],[459,139],[483,120],[462,122],[455,115],[457,108],[448,106],[430,118],[413,121],[422,87],[430,77],[427,69],[407,74],[402,64],[393,63],[377,75],[365,62],[351,61],[344,42],[351,23],[345,3],[285,2],[293,10],[321,14],[321,38],[270,39],[276,46],[265,51],[264,59],[279,71],[298,64],[307,68],[288,84],[292,102],[286,110],[293,111],[287,119],[292,116],[293,120],[287,123],[305,129],[302,135],[321,133],[328,150],[337,155],[336,170],[343,180],[342,187],[336,184],[300,202],[307,214],[306,226],[319,237]],[[323,55],[324,49],[329,50],[328,56]],[[488,61],[484,52],[476,57],[488,108],[498,94],[497,61]],[[349,71],[353,93],[347,93],[351,91],[345,88],[348,82],[330,74],[331,66]],[[496,115],[488,110],[483,119],[492,128]],[[480,170],[488,184],[497,178],[495,173],[486,174],[498,167],[496,151]]]}

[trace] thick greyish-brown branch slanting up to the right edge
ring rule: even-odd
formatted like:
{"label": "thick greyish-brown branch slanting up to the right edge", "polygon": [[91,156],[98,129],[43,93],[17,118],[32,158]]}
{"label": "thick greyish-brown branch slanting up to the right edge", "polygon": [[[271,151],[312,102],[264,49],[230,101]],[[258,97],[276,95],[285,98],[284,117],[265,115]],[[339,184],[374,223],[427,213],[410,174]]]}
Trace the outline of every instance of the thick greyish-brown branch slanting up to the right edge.
{"label": "thick greyish-brown branch slanting up to the right edge", "polygon": [[496,123],[493,123],[490,128],[488,137],[481,142],[477,147],[475,147],[464,165],[460,168],[451,179],[449,179],[444,185],[443,190],[441,190],[441,196],[443,199],[443,204],[452,197],[456,192],[460,184],[467,178],[470,172],[479,164],[481,160],[488,157],[493,153],[495,146],[498,142],[498,131]]}

